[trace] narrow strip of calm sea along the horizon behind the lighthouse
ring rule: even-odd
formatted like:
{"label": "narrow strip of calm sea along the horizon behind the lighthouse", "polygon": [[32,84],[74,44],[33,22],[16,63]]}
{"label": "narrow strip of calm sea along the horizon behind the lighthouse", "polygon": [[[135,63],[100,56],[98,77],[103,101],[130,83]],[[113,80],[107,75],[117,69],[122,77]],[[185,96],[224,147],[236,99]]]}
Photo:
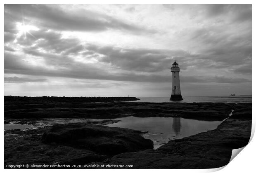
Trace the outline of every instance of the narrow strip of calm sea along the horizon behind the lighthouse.
{"label": "narrow strip of calm sea along the horizon behind the lighthouse", "polygon": [[[170,96],[171,97],[171,96]],[[170,97],[138,97],[140,100],[132,102],[172,102],[169,101]],[[213,103],[251,103],[251,95],[244,96],[183,96],[183,101],[180,103],[193,103],[193,102],[213,102]],[[177,101],[175,101],[177,102]]]}

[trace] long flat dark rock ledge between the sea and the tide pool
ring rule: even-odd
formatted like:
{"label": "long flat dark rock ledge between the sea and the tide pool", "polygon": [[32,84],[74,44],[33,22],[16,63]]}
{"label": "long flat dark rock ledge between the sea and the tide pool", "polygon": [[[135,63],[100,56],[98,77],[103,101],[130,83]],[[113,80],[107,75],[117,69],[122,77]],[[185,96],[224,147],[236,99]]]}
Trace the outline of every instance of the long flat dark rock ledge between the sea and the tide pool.
{"label": "long flat dark rock ledge between the sea and the tide pool", "polygon": [[235,103],[33,103],[5,105],[5,121],[10,119],[120,117],[182,117],[221,121],[228,117]]}

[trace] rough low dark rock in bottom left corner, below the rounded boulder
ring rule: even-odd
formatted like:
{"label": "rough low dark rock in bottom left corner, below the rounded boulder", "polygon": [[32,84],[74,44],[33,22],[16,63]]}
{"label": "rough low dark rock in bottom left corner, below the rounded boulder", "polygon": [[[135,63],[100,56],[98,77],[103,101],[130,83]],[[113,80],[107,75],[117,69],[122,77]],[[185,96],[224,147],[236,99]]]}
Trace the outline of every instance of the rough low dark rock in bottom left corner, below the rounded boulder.
{"label": "rough low dark rock in bottom left corner, below the rounded boulder", "polygon": [[[62,145],[47,145],[42,143],[42,132],[49,127],[30,131],[5,131],[5,168],[19,164],[88,164],[92,161],[104,161],[107,156]],[[11,134],[11,135],[10,135]]]}

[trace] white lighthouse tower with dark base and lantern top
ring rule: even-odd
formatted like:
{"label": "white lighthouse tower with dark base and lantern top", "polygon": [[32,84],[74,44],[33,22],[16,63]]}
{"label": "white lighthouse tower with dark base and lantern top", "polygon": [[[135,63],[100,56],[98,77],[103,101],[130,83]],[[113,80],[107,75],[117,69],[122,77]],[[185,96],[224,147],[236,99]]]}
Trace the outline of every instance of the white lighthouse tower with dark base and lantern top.
{"label": "white lighthouse tower with dark base and lantern top", "polygon": [[171,91],[170,101],[182,101],[183,98],[180,92],[180,68],[179,64],[174,61],[171,67],[171,72],[173,74],[173,87]]}

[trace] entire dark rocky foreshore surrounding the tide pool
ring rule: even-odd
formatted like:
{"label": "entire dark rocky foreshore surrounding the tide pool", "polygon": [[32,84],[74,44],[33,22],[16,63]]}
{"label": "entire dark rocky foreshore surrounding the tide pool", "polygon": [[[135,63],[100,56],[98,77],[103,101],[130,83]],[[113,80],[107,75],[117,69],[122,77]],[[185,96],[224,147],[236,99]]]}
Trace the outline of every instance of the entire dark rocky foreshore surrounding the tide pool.
{"label": "entire dark rocky foreshore surrounding the tide pool", "polygon": [[[232,116],[228,116],[233,111]],[[251,103],[49,103],[5,105],[5,123],[45,117],[185,117],[223,120],[217,129],[171,140],[153,150],[140,131],[100,122],[55,124],[5,131],[7,164],[133,165],[133,168],[217,168],[228,164],[232,149],[251,135]]]}

